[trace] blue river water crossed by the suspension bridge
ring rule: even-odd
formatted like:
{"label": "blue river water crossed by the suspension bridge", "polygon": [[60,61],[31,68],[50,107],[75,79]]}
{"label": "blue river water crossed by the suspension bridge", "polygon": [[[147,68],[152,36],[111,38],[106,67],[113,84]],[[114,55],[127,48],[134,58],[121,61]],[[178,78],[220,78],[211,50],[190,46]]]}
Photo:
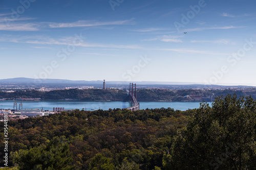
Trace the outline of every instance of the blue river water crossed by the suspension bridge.
{"label": "blue river water crossed by the suspension bridge", "polygon": [[[13,109],[14,101],[0,101],[0,109]],[[20,101],[17,101],[17,109]],[[126,102],[86,102],[86,101],[23,101],[23,109],[53,110],[53,107],[65,109],[109,110],[109,108],[130,107]],[[199,108],[200,102],[140,102],[140,109],[173,108],[175,110],[187,110]],[[211,106],[211,102],[209,102]]]}

